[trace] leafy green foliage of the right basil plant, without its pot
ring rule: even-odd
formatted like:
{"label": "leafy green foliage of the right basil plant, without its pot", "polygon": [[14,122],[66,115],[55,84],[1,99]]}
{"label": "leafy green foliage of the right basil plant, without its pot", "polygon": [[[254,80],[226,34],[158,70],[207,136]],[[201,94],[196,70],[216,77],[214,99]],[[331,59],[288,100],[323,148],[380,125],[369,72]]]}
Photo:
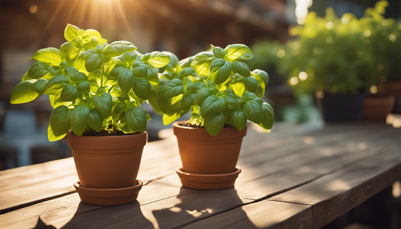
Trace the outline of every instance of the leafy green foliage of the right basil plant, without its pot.
{"label": "leafy green foliage of the right basil plant, without its pot", "polygon": [[225,49],[212,45],[211,51],[181,61],[170,54],[172,61],[159,75],[152,105],[163,113],[165,125],[191,111],[188,124],[205,127],[212,136],[225,126],[241,131],[247,120],[269,132],[273,108],[262,101],[269,76],[259,69],[250,71],[241,62],[252,57],[252,51],[241,44]]}

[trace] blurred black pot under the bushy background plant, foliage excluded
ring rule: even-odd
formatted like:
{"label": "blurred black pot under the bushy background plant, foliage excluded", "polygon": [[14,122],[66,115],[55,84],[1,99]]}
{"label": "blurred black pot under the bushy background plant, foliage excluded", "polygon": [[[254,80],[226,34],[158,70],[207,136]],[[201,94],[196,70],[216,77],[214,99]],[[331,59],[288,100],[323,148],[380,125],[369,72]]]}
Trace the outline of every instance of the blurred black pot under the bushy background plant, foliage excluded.
{"label": "blurred black pot under the bushy background plant, foliage excluded", "polygon": [[365,93],[324,93],[316,102],[325,122],[359,122],[362,118]]}

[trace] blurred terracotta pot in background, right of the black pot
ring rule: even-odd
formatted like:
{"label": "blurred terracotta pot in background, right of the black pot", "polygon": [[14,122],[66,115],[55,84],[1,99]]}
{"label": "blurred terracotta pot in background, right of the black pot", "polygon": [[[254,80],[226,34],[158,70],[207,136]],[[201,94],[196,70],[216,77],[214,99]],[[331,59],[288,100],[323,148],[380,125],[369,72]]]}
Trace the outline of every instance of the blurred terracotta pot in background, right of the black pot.
{"label": "blurred terracotta pot in background, right of the black pot", "polygon": [[393,96],[366,97],[363,103],[362,120],[386,121],[387,115],[394,107]]}

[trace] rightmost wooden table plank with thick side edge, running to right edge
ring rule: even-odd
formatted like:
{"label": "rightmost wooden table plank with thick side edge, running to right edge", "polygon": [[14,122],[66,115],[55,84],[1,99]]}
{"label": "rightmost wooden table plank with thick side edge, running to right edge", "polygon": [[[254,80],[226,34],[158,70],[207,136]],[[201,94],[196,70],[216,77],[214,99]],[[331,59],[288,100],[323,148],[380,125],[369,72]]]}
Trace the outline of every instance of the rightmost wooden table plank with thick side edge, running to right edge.
{"label": "rightmost wooden table plank with thick side edge, running to right edge", "polygon": [[320,228],[399,179],[401,150],[396,148],[269,200],[312,205],[313,227]]}

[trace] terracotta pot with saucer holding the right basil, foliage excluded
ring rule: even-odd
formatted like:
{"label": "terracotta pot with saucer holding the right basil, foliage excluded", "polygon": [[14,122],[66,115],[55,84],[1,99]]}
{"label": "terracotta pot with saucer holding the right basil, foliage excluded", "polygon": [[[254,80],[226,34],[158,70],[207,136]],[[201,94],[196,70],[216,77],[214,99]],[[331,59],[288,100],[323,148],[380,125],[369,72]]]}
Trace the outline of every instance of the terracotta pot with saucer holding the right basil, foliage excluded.
{"label": "terracotta pot with saucer holding the right basil, foliage excluded", "polygon": [[[181,180],[190,177],[190,182],[196,183],[197,179],[199,182],[196,185],[185,185],[188,182],[183,182],[182,180],[182,184],[188,188],[196,189],[232,187],[238,173],[241,172],[241,169],[238,166],[236,167],[236,164],[242,138],[247,132],[246,128],[242,131],[236,128],[223,128],[219,134],[211,136],[205,128],[180,125],[184,123],[185,121],[174,122],[173,124],[182,160],[182,168],[177,169],[177,173]],[[227,174],[230,174],[230,176],[227,176]],[[208,178],[207,175],[211,175],[213,178]],[[222,177],[231,178],[224,180],[221,179]],[[227,184],[221,185],[219,184],[221,182]]]}

